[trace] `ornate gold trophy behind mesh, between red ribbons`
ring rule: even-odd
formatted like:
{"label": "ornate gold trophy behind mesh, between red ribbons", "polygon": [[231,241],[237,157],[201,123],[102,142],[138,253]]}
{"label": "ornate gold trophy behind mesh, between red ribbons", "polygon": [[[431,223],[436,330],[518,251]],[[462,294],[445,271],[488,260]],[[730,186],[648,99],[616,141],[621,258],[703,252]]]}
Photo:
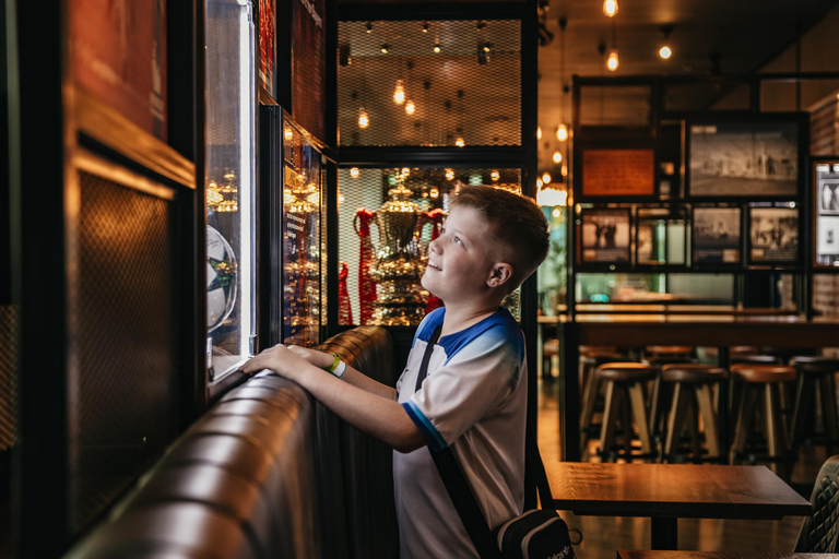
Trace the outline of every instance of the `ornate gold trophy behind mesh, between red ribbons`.
{"label": "ornate gold trophy behind mesh, between red ribbons", "polygon": [[370,275],[376,280],[373,322],[386,326],[418,324],[425,316],[420,278],[417,224],[422,211],[410,200],[403,185],[388,191],[390,198],[376,212],[379,246]]}

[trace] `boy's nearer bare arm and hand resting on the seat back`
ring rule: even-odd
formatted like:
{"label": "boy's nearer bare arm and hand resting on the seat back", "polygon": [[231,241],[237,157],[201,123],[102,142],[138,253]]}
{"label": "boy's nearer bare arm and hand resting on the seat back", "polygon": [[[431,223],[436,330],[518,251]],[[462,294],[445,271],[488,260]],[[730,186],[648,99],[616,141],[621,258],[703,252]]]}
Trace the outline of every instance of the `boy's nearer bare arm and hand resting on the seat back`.
{"label": "boy's nearer bare arm and hand resting on the seat back", "polygon": [[342,382],[350,373],[348,368],[339,379],[288,348],[275,345],[241,367],[248,373],[262,369],[270,369],[297,382],[343,420],[400,452],[411,452],[426,443],[423,433],[399,402]]}

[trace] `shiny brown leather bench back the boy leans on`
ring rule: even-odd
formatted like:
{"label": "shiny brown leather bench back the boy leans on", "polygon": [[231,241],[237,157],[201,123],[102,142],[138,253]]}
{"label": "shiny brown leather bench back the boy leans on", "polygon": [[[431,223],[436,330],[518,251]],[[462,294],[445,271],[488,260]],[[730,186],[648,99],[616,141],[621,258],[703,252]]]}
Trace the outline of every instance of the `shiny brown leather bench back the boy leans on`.
{"label": "shiny brown leather bench back the boy leans on", "polygon": [[[322,347],[395,383],[385,329]],[[69,557],[397,557],[391,461],[299,385],[258,376],[199,418]]]}

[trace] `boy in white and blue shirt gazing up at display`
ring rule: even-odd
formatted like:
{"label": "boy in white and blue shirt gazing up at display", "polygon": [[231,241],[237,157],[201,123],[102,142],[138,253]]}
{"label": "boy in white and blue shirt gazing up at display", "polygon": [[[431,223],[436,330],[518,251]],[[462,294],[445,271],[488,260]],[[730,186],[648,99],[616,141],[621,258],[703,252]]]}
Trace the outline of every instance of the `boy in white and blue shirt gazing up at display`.
{"label": "boy in white and blue shirt gazing up at display", "polygon": [[[445,307],[420,324],[395,390],[332,355],[300,347],[277,345],[243,367],[298,382],[397,450],[402,559],[477,557],[426,444],[452,445],[491,527],[520,514],[524,501],[524,338],[500,304],[547,254],[547,222],[532,200],[492,187],[465,187],[450,207],[422,280]],[[415,391],[438,329],[427,377]]]}

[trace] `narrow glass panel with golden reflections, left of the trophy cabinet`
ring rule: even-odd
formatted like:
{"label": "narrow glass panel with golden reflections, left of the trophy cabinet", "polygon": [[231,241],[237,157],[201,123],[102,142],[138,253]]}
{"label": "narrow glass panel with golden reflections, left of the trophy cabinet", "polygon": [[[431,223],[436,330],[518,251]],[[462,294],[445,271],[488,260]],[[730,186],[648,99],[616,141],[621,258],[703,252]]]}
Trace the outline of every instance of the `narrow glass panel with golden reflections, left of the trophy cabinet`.
{"label": "narrow glass panel with golden reflections, left of the trophy cabinet", "polygon": [[318,150],[289,120],[283,122],[283,343],[320,343],[321,199]]}

